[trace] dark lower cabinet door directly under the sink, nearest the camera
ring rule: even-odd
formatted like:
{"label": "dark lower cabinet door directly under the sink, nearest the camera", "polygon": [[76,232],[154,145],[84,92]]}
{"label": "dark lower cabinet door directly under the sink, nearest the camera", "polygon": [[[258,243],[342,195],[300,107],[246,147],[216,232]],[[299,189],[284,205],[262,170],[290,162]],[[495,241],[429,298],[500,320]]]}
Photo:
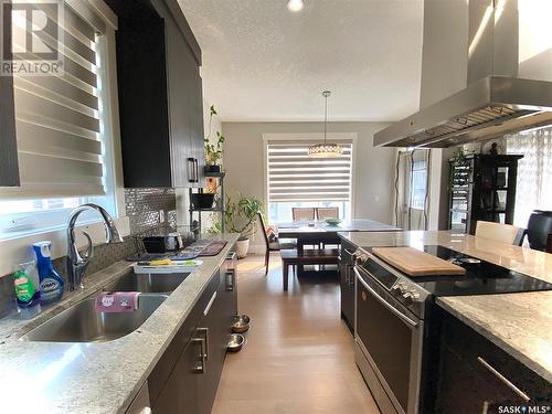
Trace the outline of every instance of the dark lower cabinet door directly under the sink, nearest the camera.
{"label": "dark lower cabinet door directly under the sink, nearest the camera", "polygon": [[201,406],[202,382],[206,363],[202,357],[203,339],[194,336],[178,359],[174,370],[153,404],[153,413],[198,414]]}

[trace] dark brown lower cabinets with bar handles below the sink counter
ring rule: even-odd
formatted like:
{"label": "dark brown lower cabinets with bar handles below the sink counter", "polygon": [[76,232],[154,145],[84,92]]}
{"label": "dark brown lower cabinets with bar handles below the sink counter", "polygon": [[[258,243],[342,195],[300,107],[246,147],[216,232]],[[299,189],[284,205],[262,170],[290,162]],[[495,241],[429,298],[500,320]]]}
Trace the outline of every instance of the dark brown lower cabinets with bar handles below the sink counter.
{"label": "dark brown lower cabinets with bar handles below the sink counter", "polygon": [[226,264],[216,270],[151,372],[148,384],[155,413],[211,412],[237,311],[234,280]]}

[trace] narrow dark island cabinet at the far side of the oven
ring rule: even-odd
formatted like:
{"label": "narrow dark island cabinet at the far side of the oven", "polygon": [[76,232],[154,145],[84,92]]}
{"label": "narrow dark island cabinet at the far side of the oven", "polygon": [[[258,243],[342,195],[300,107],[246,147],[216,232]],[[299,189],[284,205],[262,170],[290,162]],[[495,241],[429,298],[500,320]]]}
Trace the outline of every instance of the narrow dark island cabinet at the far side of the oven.
{"label": "narrow dark island cabinet at the far side of the oven", "polygon": [[354,332],[354,262],[352,254],[355,247],[341,241],[339,254],[339,279],[341,288],[341,318],[349,330]]}

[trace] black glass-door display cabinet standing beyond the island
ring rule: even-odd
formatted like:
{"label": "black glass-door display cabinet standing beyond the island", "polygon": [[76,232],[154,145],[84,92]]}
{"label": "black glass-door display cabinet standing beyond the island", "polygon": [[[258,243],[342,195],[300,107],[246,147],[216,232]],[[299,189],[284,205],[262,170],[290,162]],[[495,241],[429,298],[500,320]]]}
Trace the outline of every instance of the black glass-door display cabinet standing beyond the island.
{"label": "black glass-door display cabinet standing beyond the island", "polygon": [[448,227],[474,234],[478,220],[512,224],[521,158],[468,155],[461,161],[449,160]]}

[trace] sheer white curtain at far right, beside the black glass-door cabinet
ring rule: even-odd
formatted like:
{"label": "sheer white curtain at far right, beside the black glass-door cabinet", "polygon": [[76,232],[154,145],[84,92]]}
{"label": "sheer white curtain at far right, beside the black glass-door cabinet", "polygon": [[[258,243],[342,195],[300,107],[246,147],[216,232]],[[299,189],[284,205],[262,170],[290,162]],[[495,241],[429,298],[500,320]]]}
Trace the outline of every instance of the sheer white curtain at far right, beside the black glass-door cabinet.
{"label": "sheer white curtain at far right, beside the black glass-door cabinet", "polygon": [[523,155],[518,164],[513,224],[526,227],[533,210],[552,210],[552,127],[506,138],[508,153]]}

